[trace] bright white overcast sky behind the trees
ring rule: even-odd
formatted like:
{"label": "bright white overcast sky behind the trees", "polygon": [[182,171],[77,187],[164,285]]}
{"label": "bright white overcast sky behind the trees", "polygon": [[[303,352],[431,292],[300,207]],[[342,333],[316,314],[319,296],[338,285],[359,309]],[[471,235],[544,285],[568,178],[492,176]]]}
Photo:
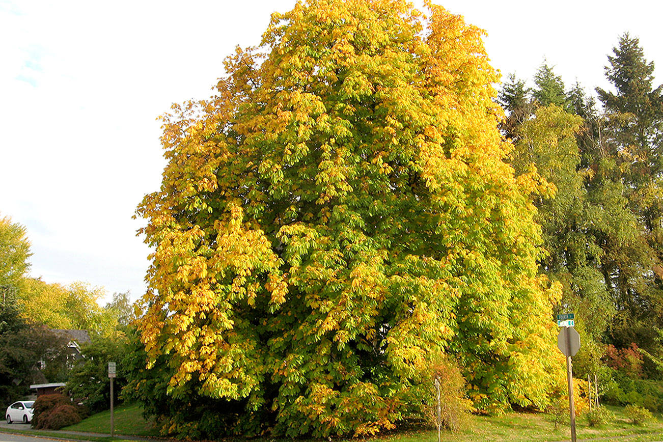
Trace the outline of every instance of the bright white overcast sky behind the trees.
{"label": "bright white overcast sky behind the trees", "polygon": [[[149,250],[131,215],[160,185],[156,117],[208,97],[223,58],[294,3],[0,0],[0,216],[27,227],[32,276],[143,294]],[[607,88],[628,31],[663,82],[663,2],[436,3],[487,30],[505,76],[530,79],[546,58],[568,87]]]}

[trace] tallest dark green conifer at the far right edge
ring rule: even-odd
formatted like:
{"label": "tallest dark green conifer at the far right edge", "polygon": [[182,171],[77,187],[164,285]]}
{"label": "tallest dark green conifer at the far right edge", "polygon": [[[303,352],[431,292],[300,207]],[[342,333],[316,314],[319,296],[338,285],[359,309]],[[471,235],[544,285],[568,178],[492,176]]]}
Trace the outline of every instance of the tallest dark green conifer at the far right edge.
{"label": "tallest dark green conifer at the far right edge", "polygon": [[652,87],[654,63],[647,62],[638,38],[624,34],[613,48],[608,80],[615,92],[597,88],[606,112],[605,145],[614,152],[615,186],[633,214],[635,238],[606,247],[603,274],[618,310],[612,339],[634,342],[660,357],[663,347],[663,96]]}

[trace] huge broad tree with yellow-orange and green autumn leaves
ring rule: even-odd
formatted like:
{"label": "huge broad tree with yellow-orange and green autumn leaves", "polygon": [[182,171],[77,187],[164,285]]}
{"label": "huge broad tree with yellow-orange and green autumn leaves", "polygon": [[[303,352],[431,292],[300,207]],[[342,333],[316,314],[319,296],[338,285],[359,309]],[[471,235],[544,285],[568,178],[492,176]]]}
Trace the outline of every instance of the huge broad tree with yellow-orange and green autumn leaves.
{"label": "huge broad tree with yellow-orange and green autumn leaves", "polygon": [[208,436],[391,428],[444,353],[483,411],[561,375],[537,183],[503,160],[481,30],[427,6],[298,3],[164,117],[140,328],[171,397],[226,410]]}

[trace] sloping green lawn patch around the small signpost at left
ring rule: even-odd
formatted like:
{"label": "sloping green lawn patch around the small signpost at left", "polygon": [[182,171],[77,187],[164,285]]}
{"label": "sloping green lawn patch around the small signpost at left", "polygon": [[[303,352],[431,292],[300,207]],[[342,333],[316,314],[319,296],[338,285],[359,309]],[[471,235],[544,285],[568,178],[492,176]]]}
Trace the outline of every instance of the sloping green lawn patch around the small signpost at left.
{"label": "sloping green lawn patch around the small signpost at left", "polygon": [[[138,404],[115,407],[113,413],[115,434],[143,437],[158,436],[158,430],[154,428],[154,425],[143,419],[143,415],[141,415],[142,412],[143,410]],[[109,410],[91,415],[79,423],[64,427],[63,430],[110,434],[111,412]]]}

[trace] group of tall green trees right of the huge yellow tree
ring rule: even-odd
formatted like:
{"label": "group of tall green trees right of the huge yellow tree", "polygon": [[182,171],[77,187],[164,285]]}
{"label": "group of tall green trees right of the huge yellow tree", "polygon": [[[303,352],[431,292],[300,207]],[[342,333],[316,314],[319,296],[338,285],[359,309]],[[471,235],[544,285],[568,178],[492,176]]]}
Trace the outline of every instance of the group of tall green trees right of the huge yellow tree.
{"label": "group of tall green trees right of the huge yellow tree", "polygon": [[555,186],[554,199],[534,199],[548,250],[539,264],[562,283],[556,309],[576,313],[574,372],[598,374],[607,400],[661,410],[663,395],[646,386],[663,374],[663,88],[653,72],[624,34],[605,67],[613,90],[596,89],[602,111],[577,83],[560,99],[564,83],[545,64],[533,89],[512,75],[499,99],[516,174],[530,166]]}

